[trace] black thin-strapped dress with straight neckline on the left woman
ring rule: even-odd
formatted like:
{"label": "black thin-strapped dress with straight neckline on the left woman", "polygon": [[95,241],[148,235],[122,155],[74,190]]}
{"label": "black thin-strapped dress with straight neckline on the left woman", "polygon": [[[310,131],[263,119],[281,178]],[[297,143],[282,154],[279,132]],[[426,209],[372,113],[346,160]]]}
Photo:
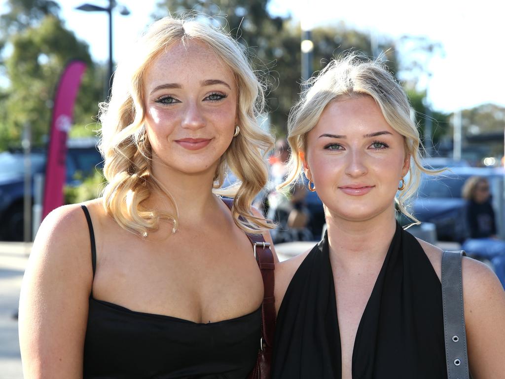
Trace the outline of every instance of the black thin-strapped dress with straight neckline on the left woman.
{"label": "black thin-strapped dress with straight neckline on the left woman", "polygon": [[[91,238],[93,275],[96,249]],[[89,297],[84,379],[244,379],[256,364],[261,307],[241,317],[195,323],[135,312]]]}

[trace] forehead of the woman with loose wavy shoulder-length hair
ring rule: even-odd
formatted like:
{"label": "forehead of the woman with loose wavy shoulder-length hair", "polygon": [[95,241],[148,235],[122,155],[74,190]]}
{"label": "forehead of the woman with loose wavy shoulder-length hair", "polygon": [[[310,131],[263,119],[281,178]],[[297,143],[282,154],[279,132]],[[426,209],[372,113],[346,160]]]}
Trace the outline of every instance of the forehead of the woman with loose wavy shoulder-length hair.
{"label": "forehead of the woman with loose wavy shoulder-length hair", "polygon": [[184,87],[207,79],[223,80],[231,87],[235,84],[230,68],[208,45],[187,40],[168,46],[155,58],[144,74],[144,88],[148,90],[161,82]]}

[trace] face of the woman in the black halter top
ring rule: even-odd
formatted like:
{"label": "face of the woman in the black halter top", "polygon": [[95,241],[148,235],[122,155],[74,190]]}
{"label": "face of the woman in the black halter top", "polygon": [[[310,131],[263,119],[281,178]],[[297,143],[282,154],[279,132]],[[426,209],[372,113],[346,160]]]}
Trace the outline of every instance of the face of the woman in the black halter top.
{"label": "face of the woman in the black halter top", "polygon": [[409,170],[403,144],[370,96],[330,103],[307,135],[304,164],[326,212],[352,221],[392,214]]}

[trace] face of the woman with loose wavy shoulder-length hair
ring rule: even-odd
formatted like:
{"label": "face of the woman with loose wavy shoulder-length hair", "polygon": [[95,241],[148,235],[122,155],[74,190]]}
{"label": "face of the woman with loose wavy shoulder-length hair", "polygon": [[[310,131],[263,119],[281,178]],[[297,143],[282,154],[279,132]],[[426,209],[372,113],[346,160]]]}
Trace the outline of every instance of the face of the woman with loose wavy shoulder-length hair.
{"label": "face of the woman with loose wavy shoulder-length hair", "polygon": [[231,70],[202,42],[175,43],[148,67],[143,90],[154,169],[213,174],[238,123]]}

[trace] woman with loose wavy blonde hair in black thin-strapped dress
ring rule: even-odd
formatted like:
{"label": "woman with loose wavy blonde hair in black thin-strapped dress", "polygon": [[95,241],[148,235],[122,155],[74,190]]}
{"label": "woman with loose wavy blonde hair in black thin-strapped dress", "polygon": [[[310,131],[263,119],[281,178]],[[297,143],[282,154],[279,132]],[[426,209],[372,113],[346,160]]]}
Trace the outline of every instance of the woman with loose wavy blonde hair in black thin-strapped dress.
{"label": "woman with loose wavy blonde hair in black thin-strapped dress", "polygon": [[[102,105],[103,197],[43,221],[23,280],[25,378],[245,378],[263,280],[245,232],[273,138],[241,46],[211,21],[164,18]],[[227,171],[241,180],[221,189]],[[217,195],[234,195],[231,211]],[[275,257],[275,253],[274,253]]]}

